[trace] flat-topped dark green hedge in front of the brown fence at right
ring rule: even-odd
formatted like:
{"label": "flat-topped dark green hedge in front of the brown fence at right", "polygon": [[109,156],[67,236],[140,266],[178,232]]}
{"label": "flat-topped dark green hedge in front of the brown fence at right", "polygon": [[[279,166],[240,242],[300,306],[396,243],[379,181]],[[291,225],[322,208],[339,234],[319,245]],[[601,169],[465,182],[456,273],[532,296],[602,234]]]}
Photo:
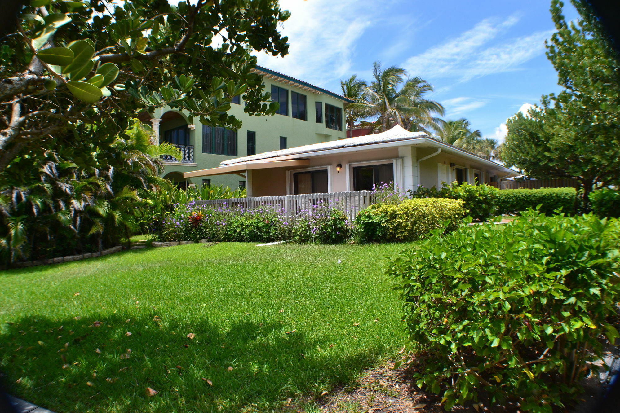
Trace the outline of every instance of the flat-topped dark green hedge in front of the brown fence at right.
{"label": "flat-topped dark green hedge in front of the brown fence at right", "polygon": [[562,212],[571,213],[576,199],[577,192],[574,188],[502,189],[497,192],[495,205],[497,215],[535,209],[539,204],[542,204],[542,213],[552,215],[558,208],[562,208]]}

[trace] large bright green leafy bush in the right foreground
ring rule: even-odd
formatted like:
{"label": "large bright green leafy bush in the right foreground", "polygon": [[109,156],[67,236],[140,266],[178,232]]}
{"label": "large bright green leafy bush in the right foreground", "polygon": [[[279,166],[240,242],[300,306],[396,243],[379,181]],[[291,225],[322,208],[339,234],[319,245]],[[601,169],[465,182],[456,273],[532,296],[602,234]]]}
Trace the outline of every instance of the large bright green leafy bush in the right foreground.
{"label": "large bright green leafy bush in the right foreground", "polygon": [[618,221],[529,210],[509,224],[461,226],[402,251],[404,321],[417,352],[415,383],[446,409],[516,397],[551,413],[577,395],[620,299]]}

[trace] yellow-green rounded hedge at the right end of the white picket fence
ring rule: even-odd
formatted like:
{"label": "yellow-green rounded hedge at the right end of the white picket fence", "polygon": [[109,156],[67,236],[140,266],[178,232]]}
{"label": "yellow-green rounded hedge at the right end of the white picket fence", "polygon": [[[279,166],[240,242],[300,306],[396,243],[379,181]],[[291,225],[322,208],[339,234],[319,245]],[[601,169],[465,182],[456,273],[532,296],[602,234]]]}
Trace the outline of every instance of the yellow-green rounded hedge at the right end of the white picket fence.
{"label": "yellow-green rounded hedge at the right end of the white picket fence", "polygon": [[378,203],[358,213],[356,237],[360,242],[404,242],[424,238],[430,231],[448,229],[465,213],[463,200],[414,198],[396,205]]}

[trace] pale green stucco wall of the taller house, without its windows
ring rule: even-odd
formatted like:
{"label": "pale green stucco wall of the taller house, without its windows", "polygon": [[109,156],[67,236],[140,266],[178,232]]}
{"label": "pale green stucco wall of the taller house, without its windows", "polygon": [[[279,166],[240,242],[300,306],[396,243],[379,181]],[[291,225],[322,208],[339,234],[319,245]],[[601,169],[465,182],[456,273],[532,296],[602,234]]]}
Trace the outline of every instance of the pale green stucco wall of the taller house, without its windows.
{"label": "pale green stucco wall of the taller house, without its windows", "polygon": [[[288,113],[285,115],[266,116],[250,116],[243,111],[243,102],[241,105],[232,104],[230,114],[242,120],[242,127],[237,131],[237,156],[224,156],[216,154],[202,153],[202,128],[203,125],[197,123],[195,130],[190,130],[190,144],[194,146],[194,162],[192,164],[167,164],[162,177],[170,172],[189,172],[198,169],[207,169],[218,167],[221,161],[231,158],[241,158],[247,156],[247,131],[256,133],[256,153],[275,151],[280,149],[280,136],[286,136],[288,148],[295,146],[303,146],[306,144],[319,143],[325,141],[334,141],[345,138],[346,129],[344,125],[344,113],[342,114],[342,131],[325,128],[325,109],[323,110],[323,122],[316,123],[315,102],[322,102],[323,108],[325,104],[334,105],[342,108],[344,101],[327,95],[322,92],[310,91],[302,87],[297,87],[288,82],[280,82],[275,79],[264,78],[265,91],[271,91],[272,84],[288,89]],[[290,116],[291,114],[291,91],[306,95],[306,112],[308,120],[299,120]],[[166,113],[166,109],[158,110],[154,113],[154,118],[161,118]],[[184,118],[186,118],[184,116]],[[184,118],[177,118],[168,122],[162,122],[159,127],[160,140],[164,140],[164,132],[166,130],[179,127],[185,122]],[[211,179],[211,185],[228,185],[231,189],[236,189],[240,180],[246,180],[239,175],[215,175],[204,177]],[[189,184],[201,185],[203,177],[195,177],[187,179]]]}

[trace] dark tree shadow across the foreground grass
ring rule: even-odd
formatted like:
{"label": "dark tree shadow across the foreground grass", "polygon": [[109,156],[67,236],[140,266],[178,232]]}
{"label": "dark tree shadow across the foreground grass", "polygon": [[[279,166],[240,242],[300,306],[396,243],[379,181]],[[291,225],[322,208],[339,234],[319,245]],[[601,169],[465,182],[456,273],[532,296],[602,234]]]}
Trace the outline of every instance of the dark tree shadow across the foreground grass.
{"label": "dark tree shadow across the foreground grass", "polygon": [[339,352],[329,337],[286,334],[273,321],[223,321],[224,329],[206,319],[129,318],[6,324],[0,369],[9,392],[58,413],[262,411],[349,383],[384,351]]}

